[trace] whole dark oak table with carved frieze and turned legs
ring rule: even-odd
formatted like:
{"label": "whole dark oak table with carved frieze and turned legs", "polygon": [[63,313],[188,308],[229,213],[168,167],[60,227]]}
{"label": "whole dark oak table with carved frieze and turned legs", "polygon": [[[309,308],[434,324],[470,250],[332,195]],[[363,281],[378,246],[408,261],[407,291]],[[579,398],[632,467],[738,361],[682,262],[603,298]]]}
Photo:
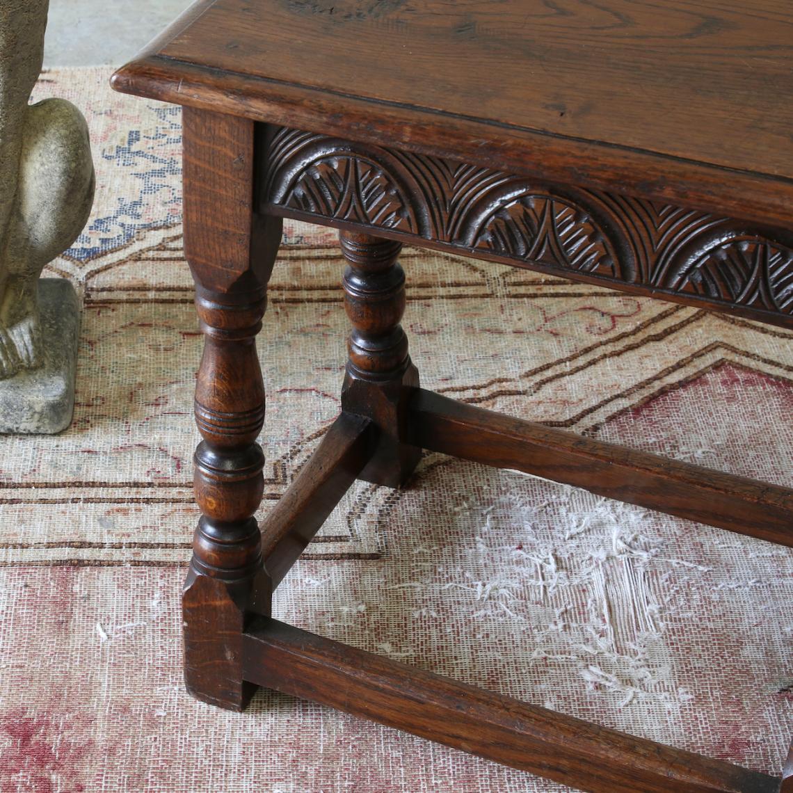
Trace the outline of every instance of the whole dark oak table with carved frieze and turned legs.
{"label": "whole dark oak table with carved frieze and turned legs", "polygon": [[[240,710],[266,686],[588,791],[793,791],[790,761],[709,760],[270,617],[351,483],[396,487],[421,449],[793,545],[793,490],[421,389],[397,263],[408,242],[793,328],[788,0],[205,0],[113,86],[184,108],[191,693]],[[259,527],[254,339],[283,217],[339,228],[353,330],[341,415]]]}

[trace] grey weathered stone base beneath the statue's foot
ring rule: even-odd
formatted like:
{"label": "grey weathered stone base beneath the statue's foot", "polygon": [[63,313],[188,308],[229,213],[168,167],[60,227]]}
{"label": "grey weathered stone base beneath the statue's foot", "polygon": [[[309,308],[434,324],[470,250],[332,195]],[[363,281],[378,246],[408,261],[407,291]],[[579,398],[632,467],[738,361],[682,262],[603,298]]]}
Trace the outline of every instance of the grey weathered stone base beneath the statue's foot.
{"label": "grey weathered stone base beneath the statue's foot", "polygon": [[44,362],[0,380],[0,433],[54,435],[71,423],[80,305],[64,278],[38,282]]}

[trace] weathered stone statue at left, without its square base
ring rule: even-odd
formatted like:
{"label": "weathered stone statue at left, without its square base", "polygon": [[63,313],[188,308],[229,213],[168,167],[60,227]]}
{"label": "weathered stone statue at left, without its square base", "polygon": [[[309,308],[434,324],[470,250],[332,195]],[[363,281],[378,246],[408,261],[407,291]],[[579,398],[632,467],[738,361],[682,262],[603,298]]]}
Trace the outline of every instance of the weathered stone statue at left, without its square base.
{"label": "weathered stone statue at left, without its square base", "polygon": [[[39,276],[75,241],[94,199],[79,110],[62,99],[29,105],[48,6],[49,0],[0,0],[0,381],[44,365],[49,341],[42,336]],[[2,425],[0,405],[0,431],[9,431]]]}

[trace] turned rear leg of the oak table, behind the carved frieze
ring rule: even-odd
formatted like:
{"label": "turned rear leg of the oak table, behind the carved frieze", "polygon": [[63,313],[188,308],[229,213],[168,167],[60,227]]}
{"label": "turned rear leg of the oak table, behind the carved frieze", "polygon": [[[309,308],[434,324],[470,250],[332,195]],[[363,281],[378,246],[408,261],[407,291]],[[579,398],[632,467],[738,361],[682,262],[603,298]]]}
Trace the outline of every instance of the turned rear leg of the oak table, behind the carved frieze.
{"label": "turned rear leg of the oak table, behind the carved frieze", "polygon": [[342,409],[366,416],[377,428],[374,455],[359,478],[398,487],[421,457],[420,449],[402,442],[408,399],[419,385],[400,325],[405,294],[397,256],[402,243],[354,232],[341,232],[339,241],[348,262],[345,307],[353,325]]}

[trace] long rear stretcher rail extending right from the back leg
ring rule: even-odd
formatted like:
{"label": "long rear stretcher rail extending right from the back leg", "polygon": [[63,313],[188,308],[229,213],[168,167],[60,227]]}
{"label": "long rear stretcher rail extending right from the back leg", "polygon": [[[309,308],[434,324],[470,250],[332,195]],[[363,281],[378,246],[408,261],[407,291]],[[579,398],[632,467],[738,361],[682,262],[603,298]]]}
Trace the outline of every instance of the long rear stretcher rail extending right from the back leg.
{"label": "long rear stretcher rail extending right from the back leg", "polygon": [[410,442],[793,546],[793,490],[512,419],[419,389]]}

